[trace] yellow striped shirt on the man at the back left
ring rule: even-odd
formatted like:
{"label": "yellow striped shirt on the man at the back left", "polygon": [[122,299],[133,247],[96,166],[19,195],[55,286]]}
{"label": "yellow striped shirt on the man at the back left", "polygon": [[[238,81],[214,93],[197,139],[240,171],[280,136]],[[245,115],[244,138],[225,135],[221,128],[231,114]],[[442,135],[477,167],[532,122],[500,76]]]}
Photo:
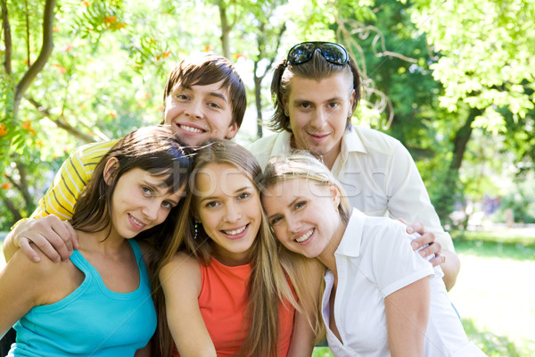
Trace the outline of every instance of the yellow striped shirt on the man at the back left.
{"label": "yellow striped shirt on the man at the back left", "polygon": [[93,175],[98,162],[119,139],[80,146],[70,154],[56,173],[52,186],[37,203],[37,209],[30,218],[42,218],[53,214],[62,220],[70,220],[74,204],[82,195],[87,181]]}

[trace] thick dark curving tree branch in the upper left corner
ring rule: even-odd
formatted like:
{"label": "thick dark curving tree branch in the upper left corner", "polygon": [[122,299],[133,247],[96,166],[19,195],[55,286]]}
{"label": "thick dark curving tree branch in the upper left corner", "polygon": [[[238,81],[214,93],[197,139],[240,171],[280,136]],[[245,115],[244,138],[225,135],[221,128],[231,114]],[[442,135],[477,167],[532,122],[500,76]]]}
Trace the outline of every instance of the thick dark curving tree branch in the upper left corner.
{"label": "thick dark curving tree branch in the upper left corner", "polygon": [[29,70],[24,74],[21,81],[15,87],[15,98],[13,100],[13,114],[17,117],[19,112],[19,106],[21,105],[22,95],[28,90],[29,85],[37,77],[37,74],[43,70],[48,58],[52,54],[53,50],[53,8],[56,0],[46,0],[45,11],[43,12],[43,46],[37,56],[36,62],[34,62]]}

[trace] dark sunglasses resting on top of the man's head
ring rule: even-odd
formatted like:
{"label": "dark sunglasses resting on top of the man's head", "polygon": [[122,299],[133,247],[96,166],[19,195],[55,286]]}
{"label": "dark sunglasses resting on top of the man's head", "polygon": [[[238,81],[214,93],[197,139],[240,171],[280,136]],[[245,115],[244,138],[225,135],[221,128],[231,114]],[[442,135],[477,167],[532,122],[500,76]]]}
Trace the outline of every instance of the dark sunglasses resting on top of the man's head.
{"label": "dark sunglasses resting on top of the man's head", "polygon": [[327,62],[334,64],[345,64],[350,60],[348,52],[341,45],[332,42],[301,42],[292,47],[288,52],[288,62],[300,64],[310,61],[316,50],[324,56]]}

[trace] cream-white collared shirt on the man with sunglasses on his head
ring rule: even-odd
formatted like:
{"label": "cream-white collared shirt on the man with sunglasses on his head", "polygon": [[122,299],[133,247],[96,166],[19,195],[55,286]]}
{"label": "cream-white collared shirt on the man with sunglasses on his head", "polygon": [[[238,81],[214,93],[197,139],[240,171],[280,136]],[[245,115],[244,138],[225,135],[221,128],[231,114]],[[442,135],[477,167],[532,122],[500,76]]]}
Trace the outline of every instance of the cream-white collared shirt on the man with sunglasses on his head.
{"label": "cream-white collared shirt on the man with sunglasses on his head", "polygon": [[[271,156],[292,153],[287,131],[262,137],[249,150],[264,168]],[[341,153],[331,170],[350,207],[375,217],[421,221],[435,234],[442,249],[455,252],[449,234],[440,225],[416,164],[399,140],[374,129],[352,126],[342,137]]]}

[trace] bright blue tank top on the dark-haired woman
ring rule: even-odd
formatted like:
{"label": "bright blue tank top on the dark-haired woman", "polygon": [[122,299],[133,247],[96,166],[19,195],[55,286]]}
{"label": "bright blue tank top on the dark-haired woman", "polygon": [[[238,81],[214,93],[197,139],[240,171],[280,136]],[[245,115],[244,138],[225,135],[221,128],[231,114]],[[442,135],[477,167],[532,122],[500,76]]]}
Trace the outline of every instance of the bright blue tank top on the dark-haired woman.
{"label": "bright blue tank top on the dark-haired woman", "polygon": [[156,329],[151,285],[137,242],[128,239],[136,255],[140,282],[131,293],[108,289],[100,274],[78,251],[70,261],[86,277],[57,303],[36,306],[14,328],[17,343],[8,356],[59,357],[133,356]]}

